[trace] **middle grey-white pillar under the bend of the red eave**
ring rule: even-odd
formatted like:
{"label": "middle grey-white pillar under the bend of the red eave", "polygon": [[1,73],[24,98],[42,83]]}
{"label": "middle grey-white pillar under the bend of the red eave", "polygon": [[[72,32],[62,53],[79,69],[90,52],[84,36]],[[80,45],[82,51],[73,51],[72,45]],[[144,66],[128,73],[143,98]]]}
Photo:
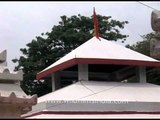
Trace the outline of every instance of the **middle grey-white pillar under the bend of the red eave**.
{"label": "middle grey-white pillar under the bend of the red eave", "polygon": [[78,80],[88,79],[88,64],[78,64]]}

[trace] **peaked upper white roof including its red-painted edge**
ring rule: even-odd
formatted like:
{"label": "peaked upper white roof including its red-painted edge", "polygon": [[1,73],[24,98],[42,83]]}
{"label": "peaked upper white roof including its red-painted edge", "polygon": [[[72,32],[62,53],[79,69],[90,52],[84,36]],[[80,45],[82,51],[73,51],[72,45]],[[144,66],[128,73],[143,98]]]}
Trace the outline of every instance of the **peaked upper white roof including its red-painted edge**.
{"label": "peaked upper white roof including its red-painted edge", "polygon": [[39,72],[37,74],[37,79],[76,64],[160,66],[160,62],[156,59],[135,52],[101,37],[100,40],[93,37],[46,69]]}

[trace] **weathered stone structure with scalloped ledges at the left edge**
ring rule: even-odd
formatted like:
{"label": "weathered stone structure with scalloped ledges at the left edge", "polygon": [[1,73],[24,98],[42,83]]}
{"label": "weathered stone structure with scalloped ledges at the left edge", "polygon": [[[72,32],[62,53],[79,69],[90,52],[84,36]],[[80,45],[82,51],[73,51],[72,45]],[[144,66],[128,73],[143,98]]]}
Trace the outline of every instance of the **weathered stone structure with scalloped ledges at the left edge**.
{"label": "weathered stone structure with scalloped ledges at the left edge", "polygon": [[37,104],[37,96],[27,96],[20,88],[23,72],[7,68],[7,51],[0,53],[0,118],[20,118]]}

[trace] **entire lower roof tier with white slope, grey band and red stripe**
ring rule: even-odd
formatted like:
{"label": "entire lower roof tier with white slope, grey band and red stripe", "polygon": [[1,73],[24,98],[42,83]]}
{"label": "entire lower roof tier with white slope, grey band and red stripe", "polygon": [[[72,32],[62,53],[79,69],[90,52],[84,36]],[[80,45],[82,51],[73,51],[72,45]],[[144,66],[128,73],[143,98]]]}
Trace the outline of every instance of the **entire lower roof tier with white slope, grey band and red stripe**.
{"label": "entire lower roof tier with white slope, grey band and red stripe", "polygon": [[107,118],[107,115],[115,117],[124,114],[130,117],[154,114],[155,117],[160,115],[159,93],[160,87],[150,83],[78,81],[39,97],[38,104],[23,117],[63,118],[79,115],[77,117],[80,118],[83,115],[102,115]]}

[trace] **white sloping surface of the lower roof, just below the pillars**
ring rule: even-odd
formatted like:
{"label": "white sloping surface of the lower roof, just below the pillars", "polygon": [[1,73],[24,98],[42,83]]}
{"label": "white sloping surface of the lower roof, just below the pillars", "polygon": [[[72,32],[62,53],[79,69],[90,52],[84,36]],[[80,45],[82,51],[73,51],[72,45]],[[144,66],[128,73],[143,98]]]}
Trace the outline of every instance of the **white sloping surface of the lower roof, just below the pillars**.
{"label": "white sloping surface of the lower roof, just below the pillars", "polygon": [[[38,98],[46,100],[128,100],[160,102],[160,86],[149,83],[81,81]],[[86,97],[85,97],[86,96]]]}

